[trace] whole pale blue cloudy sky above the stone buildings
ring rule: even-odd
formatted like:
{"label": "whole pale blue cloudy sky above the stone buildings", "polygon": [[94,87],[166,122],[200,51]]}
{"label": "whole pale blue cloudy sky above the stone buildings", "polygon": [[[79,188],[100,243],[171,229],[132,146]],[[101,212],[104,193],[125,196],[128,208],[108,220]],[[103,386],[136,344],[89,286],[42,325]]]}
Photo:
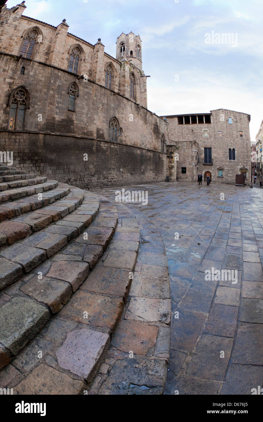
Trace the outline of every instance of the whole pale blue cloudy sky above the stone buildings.
{"label": "whole pale blue cloudy sky above the stone buildings", "polygon": [[[19,0],[20,2],[20,0]],[[16,5],[8,0],[7,7]],[[156,114],[217,108],[251,114],[250,135],[263,120],[262,0],[26,0],[24,15],[57,26],[116,55],[116,38],[142,40],[148,108]],[[206,43],[214,32],[230,43]],[[209,34],[209,35],[207,35]]]}

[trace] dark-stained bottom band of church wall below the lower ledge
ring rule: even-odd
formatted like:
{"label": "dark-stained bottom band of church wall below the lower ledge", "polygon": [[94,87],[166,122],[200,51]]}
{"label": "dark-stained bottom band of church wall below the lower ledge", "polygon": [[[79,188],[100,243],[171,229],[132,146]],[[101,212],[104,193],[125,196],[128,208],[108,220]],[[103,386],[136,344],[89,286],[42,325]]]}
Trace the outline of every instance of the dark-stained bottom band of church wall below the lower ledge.
{"label": "dark-stained bottom band of church wall below the lower ledge", "polygon": [[[98,139],[44,133],[0,132],[14,165],[77,187],[126,187],[164,181],[166,154]],[[87,160],[84,160],[87,154]]]}

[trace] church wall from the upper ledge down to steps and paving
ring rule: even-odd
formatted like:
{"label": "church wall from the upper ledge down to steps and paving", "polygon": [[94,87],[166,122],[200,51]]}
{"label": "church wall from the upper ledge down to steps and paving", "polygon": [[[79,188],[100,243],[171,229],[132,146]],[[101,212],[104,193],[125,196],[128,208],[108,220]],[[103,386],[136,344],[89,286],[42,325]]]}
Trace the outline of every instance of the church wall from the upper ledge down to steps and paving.
{"label": "church wall from the upper ledge down to steps and paving", "polygon": [[[162,118],[93,81],[22,60],[24,75],[20,75],[21,60],[0,54],[1,150],[13,151],[19,167],[88,189],[165,180],[161,136],[164,133],[168,139],[168,130]],[[79,93],[76,110],[70,111],[68,87],[73,81]],[[30,96],[25,130],[6,130],[9,97],[21,85]],[[117,143],[110,142],[113,116],[123,130]]]}

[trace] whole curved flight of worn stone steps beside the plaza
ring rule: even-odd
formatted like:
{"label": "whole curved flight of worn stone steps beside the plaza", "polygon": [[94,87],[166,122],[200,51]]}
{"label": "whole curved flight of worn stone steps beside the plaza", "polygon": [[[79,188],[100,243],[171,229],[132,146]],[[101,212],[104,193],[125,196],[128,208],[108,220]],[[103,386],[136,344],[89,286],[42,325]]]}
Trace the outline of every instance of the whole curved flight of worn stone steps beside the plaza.
{"label": "whole curved flight of worn stone steps beside the plaza", "polygon": [[136,219],[117,227],[106,198],[8,166],[0,176],[0,388],[83,394],[122,317]]}

